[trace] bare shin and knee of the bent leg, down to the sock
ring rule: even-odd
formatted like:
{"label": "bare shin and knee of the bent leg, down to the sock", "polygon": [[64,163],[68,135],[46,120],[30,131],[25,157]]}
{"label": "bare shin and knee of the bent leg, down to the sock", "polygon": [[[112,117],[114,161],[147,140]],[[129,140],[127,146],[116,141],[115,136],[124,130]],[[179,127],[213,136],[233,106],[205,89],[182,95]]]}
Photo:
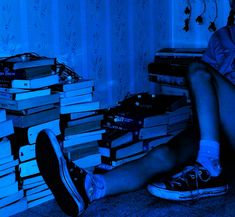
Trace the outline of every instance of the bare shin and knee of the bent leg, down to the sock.
{"label": "bare shin and knee of the bent leg, down to the sock", "polygon": [[189,68],[189,86],[195,104],[202,140],[219,141],[219,106],[213,77],[204,64]]}

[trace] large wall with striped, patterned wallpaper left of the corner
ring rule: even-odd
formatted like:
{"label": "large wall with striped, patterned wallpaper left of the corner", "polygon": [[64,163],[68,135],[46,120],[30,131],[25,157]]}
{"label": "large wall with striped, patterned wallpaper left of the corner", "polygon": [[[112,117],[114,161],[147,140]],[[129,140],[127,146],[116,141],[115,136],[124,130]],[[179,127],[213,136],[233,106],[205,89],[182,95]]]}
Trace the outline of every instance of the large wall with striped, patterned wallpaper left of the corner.
{"label": "large wall with striped, patterned wallpaper left of the corner", "polygon": [[170,0],[1,0],[0,56],[57,57],[114,105],[152,89],[147,64],[170,43]]}

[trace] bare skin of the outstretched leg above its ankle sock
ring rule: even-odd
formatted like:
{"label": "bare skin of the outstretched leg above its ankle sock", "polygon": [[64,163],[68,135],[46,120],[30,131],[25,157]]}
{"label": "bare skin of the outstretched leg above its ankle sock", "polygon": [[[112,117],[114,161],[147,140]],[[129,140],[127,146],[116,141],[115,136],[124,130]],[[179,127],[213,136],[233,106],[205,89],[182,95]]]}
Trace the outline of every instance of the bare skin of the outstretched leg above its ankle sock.
{"label": "bare skin of the outstretched leg above its ankle sock", "polygon": [[169,144],[150,151],[145,157],[124,164],[104,174],[106,195],[137,190],[156,175],[168,172],[188,161],[197,153],[198,141],[194,129],[188,129]]}

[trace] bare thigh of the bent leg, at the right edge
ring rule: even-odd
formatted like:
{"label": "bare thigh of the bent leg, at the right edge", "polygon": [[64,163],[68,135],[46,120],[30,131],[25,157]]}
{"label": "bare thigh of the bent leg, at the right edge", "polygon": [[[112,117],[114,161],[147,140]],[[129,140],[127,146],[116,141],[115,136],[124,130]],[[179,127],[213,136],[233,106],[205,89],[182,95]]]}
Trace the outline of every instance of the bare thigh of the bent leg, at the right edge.
{"label": "bare thigh of the bent leg, at the right edge", "polygon": [[235,149],[235,86],[219,72],[210,69],[219,104],[221,130]]}

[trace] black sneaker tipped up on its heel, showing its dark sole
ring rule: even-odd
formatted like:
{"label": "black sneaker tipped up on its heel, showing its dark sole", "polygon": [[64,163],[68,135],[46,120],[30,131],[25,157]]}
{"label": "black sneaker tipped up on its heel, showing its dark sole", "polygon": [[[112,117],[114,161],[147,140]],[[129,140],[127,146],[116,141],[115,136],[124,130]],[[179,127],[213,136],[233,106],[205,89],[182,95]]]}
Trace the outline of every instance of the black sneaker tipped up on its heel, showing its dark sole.
{"label": "black sneaker tipped up on its heel, showing its dark sole", "polygon": [[84,187],[87,173],[66,160],[51,130],[42,130],[38,134],[36,160],[60,208],[69,216],[80,215],[89,203]]}

